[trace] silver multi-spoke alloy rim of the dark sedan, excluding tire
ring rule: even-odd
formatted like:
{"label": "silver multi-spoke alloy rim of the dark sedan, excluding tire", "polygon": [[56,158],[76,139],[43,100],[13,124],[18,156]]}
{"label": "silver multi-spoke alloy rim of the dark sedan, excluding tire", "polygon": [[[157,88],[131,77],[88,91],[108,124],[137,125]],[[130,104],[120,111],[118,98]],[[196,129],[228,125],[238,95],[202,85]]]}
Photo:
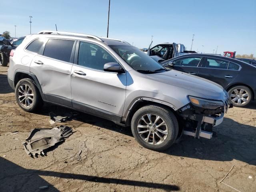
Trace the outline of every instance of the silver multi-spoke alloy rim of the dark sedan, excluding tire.
{"label": "silver multi-spoke alloy rim of the dark sedan, excluding tire", "polygon": [[244,89],[234,89],[230,93],[230,100],[238,105],[246,104],[249,100],[249,94]]}

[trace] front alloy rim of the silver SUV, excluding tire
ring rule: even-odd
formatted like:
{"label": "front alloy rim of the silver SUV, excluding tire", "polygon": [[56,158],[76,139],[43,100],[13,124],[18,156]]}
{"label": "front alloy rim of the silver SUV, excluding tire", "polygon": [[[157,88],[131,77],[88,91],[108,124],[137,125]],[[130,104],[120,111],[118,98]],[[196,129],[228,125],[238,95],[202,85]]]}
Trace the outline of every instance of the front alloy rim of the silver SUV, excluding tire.
{"label": "front alloy rim of the silver SUV, excluding tire", "polygon": [[139,118],[137,122],[137,132],[144,142],[158,145],[166,140],[168,127],[162,117],[148,113]]}

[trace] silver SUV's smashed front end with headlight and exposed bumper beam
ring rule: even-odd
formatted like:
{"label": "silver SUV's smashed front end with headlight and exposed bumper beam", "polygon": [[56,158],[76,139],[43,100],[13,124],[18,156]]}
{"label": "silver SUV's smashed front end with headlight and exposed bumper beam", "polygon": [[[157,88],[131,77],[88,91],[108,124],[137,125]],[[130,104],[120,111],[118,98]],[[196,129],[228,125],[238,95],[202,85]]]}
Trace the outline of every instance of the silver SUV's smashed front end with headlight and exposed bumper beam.
{"label": "silver SUV's smashed front end with headlight and exposed bumper beam", "polygon": [[188,96],[190,103],[178,110],[182,133],[194,138],[212,138],[212,127],[222,123],[228,108],[232,108],[228,99],[225,102]]}

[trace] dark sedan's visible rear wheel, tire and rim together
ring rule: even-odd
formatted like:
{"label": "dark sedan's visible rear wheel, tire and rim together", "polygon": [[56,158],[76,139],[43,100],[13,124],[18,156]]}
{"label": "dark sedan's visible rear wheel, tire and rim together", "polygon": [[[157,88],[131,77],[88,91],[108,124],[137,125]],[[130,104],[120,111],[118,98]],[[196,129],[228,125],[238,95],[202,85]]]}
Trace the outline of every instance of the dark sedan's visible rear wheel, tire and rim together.
{"label": "dark sedan's visible rear wheel, tire and rim together", "polygon": [[252,91],[246,86],[232,87],[228,90],[228,95],[233,106],[236,107],[247,106],[252,100]]}

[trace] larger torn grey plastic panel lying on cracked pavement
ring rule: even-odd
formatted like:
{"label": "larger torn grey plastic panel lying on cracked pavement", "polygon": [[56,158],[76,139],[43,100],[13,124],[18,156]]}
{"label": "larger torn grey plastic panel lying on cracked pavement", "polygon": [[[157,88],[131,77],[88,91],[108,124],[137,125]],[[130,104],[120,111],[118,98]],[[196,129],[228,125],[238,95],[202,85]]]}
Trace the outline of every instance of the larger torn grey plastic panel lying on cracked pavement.
{"label": "larger torn grey plastic panel lying on cracked pavement", "polygon": [[54,128],[32,129],[23,146],[28,155],[44,155],[43,150],[54,146],[58,142],[64,141],[72,133],[72,128],[62,125]]}

